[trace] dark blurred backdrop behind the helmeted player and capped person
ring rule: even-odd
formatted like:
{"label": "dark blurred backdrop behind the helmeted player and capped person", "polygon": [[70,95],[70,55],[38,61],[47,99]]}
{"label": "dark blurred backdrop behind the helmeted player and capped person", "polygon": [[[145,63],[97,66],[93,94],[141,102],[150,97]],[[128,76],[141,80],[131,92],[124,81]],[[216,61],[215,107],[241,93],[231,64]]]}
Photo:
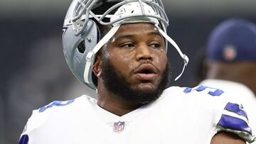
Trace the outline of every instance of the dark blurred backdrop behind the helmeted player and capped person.
{"label": "dark blurred backdrop behind the helmeted player and capped person", "polygon": [[[168,33],[190,62],[169,46],[171,85],[191,86],[198,50],[225,18],[256,22],[255,0],[163,0],[169,16]],[[17,143],[33,109],[50,101],[95,93],[81,84],[65,64],[62,26],[71,0],[0,1],[0,143]]]}

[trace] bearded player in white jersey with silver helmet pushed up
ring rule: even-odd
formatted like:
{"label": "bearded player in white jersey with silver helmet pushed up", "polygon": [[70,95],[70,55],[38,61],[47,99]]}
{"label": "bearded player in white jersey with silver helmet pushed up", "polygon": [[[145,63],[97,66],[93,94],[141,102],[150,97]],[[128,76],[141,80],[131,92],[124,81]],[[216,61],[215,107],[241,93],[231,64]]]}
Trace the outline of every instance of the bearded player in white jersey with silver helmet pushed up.
{"label": "bearded player in white jersey with silver helmet pushed up", "polygon": [[63,26],[64,55],[97,99],[83,95],[34,110],[19,143],[251,143],[247,114],[225,99],[228,93],[167,88],[168,42],[183,70],[188,64],[166,34],[168,23],[160,0],[74,0]]}

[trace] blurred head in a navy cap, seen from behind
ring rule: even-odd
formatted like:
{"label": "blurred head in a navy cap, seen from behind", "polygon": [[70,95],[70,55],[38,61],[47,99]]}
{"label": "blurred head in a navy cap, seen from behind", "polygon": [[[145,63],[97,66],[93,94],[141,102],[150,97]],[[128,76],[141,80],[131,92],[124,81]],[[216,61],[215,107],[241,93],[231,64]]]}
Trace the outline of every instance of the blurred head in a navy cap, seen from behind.
{"label": "blurred head in a navy cap, seen from behind", "polygon": [[232,18],[210,34],[207,48],[207,78],[247,85],[256,93],[256,26]]}

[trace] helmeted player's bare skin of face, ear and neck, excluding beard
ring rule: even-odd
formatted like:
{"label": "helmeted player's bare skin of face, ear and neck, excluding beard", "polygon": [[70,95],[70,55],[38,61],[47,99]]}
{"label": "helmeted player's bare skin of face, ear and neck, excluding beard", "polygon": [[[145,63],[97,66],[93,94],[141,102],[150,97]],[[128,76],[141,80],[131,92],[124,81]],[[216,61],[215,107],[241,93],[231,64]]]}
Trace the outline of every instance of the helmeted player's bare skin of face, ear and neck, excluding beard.
{"label": "helmeted player's bare skin of face, ear and neck, excluding beard", "polygon": [[[166,50],[164,38],[150,23],[129,23],[122,25],[110,43],[102,48],[103,55],[114,68],[122,74],[132,89],[153,91],[159,85],[166,69]],[[106,56],[106,55],[105,55]],[[93,72],[101,72],[102,58],[97,56]],[[98,77],[97,104],[118,116],[137,109],[142,104],[117,99],[109,92]]]}

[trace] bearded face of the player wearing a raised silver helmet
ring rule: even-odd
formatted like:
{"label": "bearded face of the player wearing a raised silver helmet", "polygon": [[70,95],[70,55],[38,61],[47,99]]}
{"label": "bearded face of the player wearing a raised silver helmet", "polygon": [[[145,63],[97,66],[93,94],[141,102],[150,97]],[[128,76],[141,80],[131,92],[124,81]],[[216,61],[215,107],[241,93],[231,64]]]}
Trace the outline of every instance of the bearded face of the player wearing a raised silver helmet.
{"label": "bearded face of the player wearing a raised silver helmet", "polygon": [[[152,24],[121,26],[103,53],[103,83],[124,99],[133,101],[144,95],[142,103],[152,101],[169,82],[164,38]],[[150,95],[154,98],[148,99]]]}

